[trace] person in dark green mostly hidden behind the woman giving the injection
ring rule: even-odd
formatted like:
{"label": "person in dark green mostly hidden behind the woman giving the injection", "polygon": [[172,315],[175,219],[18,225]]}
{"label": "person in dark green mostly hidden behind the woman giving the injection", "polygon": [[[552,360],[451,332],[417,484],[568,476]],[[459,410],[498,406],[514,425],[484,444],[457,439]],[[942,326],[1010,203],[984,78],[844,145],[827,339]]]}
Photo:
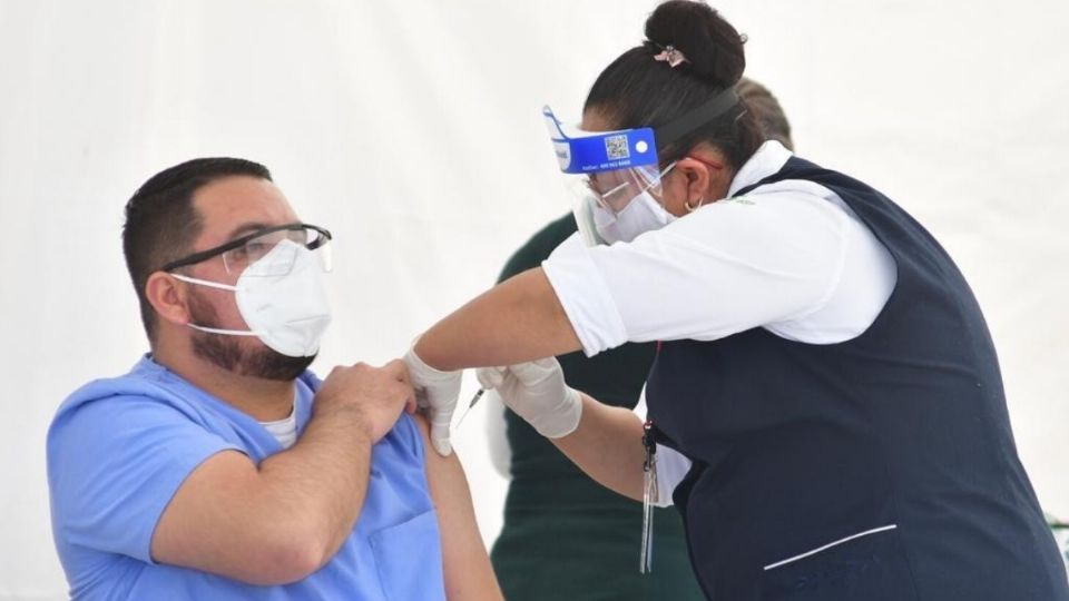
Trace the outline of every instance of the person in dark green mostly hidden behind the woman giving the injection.
{"label": "person in dark green mostly hidden behind the woman giving the injection", "polygon": [[[745,78],[736,91],[756,114],[765,137],[793,149],[791,126],[776,98]],[[499,282],[541,265],[576,229],[570,211],[543,227],[512,255]],[[655,351],[654,343],[626,344],[590,358],[577,352],[557,359],[569,386],[634,408]],[[653,571],[640,574],[643,504],[591,480],[507,408],[504,420],[512,480],[490,559],[506,599],[705,599],[690,568],[679,512],[655,509]]]}

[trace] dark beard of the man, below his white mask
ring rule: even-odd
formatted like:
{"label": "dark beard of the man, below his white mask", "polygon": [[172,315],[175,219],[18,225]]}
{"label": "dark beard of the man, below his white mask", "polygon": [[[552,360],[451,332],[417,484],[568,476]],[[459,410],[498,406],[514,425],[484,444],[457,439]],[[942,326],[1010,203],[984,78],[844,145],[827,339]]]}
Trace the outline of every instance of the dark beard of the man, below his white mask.
{"label": "dark beard of the man, below his white mask", "polygon": [[[189,297],[189,317],[197,325],[219,327],[215,307],[196,293]],[[291,357],[267,346],[244,349],[234,336],[197,331],[193,333],[193,353],[237,375],[284,382],[296,380],[315,359],[315,355]]]}

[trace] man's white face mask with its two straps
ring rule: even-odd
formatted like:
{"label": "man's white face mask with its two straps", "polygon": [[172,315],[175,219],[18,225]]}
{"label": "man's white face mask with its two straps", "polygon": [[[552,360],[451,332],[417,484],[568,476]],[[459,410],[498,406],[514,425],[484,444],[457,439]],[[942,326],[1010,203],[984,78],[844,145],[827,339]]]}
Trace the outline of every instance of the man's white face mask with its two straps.
{"label": "man's white face mask with its two straps", "polygon": [[[279,265],[290,264],[290,269]],[[282,240],[242,272],[234,286],[171,274],[190,284],[233,290],[237,309],[249,329],[219,329],[188,324],[209,334],[256,336],[268,348],[290,357],[308,357],[331,323],[331,306],[323,289],[322,266],[313,250]]]}

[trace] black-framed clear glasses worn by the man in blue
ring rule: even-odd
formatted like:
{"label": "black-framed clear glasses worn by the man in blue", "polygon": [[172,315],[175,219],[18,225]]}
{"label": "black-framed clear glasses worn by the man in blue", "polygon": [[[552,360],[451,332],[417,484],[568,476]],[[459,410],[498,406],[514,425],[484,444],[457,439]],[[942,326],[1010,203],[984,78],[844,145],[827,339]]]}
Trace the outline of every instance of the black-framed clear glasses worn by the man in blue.
{"label": "black-framed clear glasses worn by the man in blue", "polygon": [[[275,247],[278,246],[278,243],[283,240],[290,240],[308,250],[318,250],[316,255],[320,257],[323,270],[331,270],[331,253],[330,245],[327,244],[331,242],[331,233],[322,227],[310,224],[288,224],[261,229],[242,236],[241,238],[235,238],[226,244],[220,244],[215,248],[200,250],[199,253],[173,260],[164,265],[160,270],[173,272],[179,267],[195,265],[220,255],[226,273],[241,274],[246,267],[274,250]],[[286,247],[279,248],[279,253],[276,253],[275,256],[272,257],[267,266],[269,268],[265,269],[263,275],[285,275],[290,273],[296,257],[296,246],[290,247],[288,252]]]}

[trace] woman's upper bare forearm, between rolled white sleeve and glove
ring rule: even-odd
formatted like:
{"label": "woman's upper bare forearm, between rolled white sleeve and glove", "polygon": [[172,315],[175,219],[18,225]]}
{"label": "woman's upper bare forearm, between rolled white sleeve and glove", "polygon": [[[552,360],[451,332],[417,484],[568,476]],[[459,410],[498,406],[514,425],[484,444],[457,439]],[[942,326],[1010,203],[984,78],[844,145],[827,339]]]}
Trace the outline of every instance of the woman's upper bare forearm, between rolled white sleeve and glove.
{"label": "woman's upper bare forearm, between rolled white sleeve and glove", "polygon": [[513,365],[582,348],[541,267],[494,286],[431,326],[415,353],[442,371]]}

